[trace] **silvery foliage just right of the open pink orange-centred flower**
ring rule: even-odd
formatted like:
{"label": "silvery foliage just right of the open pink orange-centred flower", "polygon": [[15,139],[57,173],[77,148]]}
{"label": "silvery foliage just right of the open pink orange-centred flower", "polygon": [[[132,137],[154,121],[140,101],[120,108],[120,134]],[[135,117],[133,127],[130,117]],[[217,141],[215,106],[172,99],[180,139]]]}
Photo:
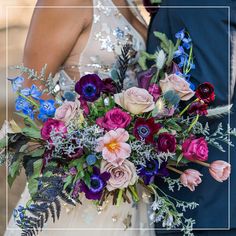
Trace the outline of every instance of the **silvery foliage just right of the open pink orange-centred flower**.
{"label": "silvery foliage just right of the open pink orange-centred flower", "polygon": [[158,160],[160,165],[175,155],[174,153],[157,153],[152,145],[147,145],[139,140],[130,141],[129,144],[132,150],[132,162],[135,165],[146,166],[146,162],[149,160]]}

